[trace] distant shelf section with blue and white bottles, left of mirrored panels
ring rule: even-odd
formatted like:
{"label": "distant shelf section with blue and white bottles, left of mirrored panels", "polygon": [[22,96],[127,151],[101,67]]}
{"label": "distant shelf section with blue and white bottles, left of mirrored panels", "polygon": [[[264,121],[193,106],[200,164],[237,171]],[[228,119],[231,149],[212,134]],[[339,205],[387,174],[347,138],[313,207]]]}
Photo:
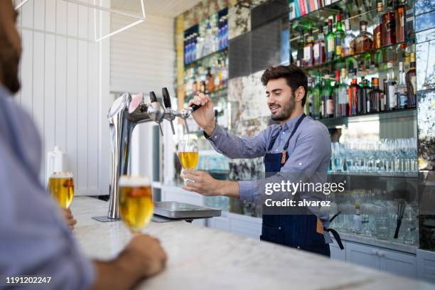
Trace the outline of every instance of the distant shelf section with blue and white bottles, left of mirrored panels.
{"label": "distant shelf section with blue and white bottles, left of mirrored panels", "polygon": [[222,9],[184,31],[183,45],[185,65],[225,50],[228,46],[228,9]]}

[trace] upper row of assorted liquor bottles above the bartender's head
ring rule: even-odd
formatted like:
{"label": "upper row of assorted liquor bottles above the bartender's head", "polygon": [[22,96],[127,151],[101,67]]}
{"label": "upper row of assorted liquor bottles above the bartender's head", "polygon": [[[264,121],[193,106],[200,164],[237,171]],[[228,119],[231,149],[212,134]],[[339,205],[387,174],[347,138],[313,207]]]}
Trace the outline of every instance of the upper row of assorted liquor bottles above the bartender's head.
{"label": "upper row of assorted liquor bottles above the bartender's head", "polygon": [[[303,18],[304,23],[291,23],[290,47],[293,63],[304,68],[333,67],[336,64],[346,63],[347,58],[360,58],[370,54],[376,54],[379,58],[378,50],[383,53],[385,50],[388,52],[391,46],[397,48],[412,45],[414,18],[408,15],[404,18],[404,14],[411,11],[405,11],[405,7],[409,5],[412,5],[411,2],[405,4],[402,1],[389,0],[387,9],[384,9],[382,2],[379,1],[375,10],[362,13],[355,7],[343,13],[331,14],[330,12],[328,23],[324,23],[323,18],[315,21]],[[355,13],[357,15],[350,16]],[[344,20],[343,15],[347,16]],[[396,17],[397,21],[395,21]],[[355,24],[353,25],[355,22],[360,26],[357,36],[352,29],[352,26],[355,27]],[[328,30],[323,33],[325,26]],[[316,32],[318,33],[314,35],[313,33]],[[387,55],[386,60],[392,59]]]}

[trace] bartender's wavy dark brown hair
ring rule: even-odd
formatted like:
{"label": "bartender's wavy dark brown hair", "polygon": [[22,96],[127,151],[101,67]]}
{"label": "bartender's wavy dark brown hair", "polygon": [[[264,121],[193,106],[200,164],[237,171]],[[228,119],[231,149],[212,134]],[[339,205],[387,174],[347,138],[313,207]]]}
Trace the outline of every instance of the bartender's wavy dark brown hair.
{"label": "bartender's wavy dark brown hair", "polygon": [[286,79],[287,85],[291,87],[291,92],[296,92],[298,87],[304,87],[305,95],[302,99],[302,107],[304,107],[306,102],[306,92],[308,91],[308,80],[304,70],[301,70],[296,65],[279,65],[276,67],[270,67],[264,70],[262,75],[263,85],[267,85],[269,80],[276,80],[281,77]]}

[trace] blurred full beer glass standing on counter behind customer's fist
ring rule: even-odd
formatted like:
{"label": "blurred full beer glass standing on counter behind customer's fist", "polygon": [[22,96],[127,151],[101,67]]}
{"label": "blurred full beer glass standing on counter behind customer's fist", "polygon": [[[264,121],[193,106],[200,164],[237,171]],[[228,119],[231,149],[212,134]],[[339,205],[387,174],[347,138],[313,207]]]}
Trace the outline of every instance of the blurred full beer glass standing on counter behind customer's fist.
{"label": "blurred full beer glass standing on counter behind customer's fist", "polygon": [[139,234],[153,216],[154,203],[148,176],[119,178],[119,213],[133,234]]}

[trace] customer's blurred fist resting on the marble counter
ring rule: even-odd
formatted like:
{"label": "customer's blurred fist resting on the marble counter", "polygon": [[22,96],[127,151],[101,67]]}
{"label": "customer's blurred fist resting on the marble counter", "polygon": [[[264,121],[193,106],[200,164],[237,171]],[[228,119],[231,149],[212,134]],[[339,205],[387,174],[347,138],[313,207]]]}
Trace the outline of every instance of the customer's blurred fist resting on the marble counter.
{"label": "customer's blurred fist resting on the marble counter", "polygon": [[[125,247],[124,253],[141,269],[142,277],[153,276],[163,270],[166,264],[166,252],[160,241],[149,235],[136,235]],[[127,263],[131,262],[126,259]]]}

